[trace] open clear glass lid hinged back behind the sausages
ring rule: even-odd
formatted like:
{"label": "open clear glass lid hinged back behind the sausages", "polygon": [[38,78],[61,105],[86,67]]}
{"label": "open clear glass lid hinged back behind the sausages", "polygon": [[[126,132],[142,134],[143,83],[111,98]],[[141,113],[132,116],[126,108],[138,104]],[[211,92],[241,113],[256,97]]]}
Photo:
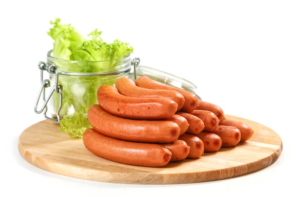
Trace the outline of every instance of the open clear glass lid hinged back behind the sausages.
{"label": "open clear glass lid hinged back behind the sausages", "polygon": [[[140,65],[137,66],[136,68],[136,74],[137,74],[137,77],[145,75],[145,76],[148,76],[150,79],[157,81],[159,83],[186,90],[188,92],[195,94],[197,98],[201,100],[201,98],[196,93],[197,86],[186,79],[183,79],[176,75],[173,75],[168,72],[164,72],[155,68],[151,68],[148,66],[140,66]],[[129,73],[129,78],[135,80],[133,71]]]}

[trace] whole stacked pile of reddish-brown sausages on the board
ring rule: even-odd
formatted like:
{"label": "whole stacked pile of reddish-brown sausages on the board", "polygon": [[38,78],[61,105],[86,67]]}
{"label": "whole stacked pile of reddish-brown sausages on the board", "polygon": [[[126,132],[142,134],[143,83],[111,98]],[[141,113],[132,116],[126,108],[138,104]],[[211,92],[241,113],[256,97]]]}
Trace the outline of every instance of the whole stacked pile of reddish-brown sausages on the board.
{"label": "whole stacked pile of reddish-brown sausages on the board", "polygon": [[226,120],[219,106],[147,76],[103,85],[97,99],[87,113],[92,129],[84,131],[83,143],[118,163],[165,166],[235,146],[254,133],[244,123]]}

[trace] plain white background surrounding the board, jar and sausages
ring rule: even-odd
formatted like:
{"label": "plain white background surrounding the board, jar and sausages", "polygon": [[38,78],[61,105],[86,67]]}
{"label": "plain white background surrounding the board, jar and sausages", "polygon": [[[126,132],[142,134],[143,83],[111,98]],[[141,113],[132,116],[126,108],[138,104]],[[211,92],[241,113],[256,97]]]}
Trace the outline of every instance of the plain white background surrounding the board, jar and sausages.
{"label": "plain white background surrounding the board, jar and sausages", "polygon": [[[33,110],[40,85],[37,63],[52,47],[46,31],[55,17],[81,33],[98,28],[107,41],[129,42],[141,65],[184,77],[224,113],[276,131],[283,140],[282,155],[242,177],[170,186],[84,181],[28,164],[17,140],[43,120]],[[295,194],[295,1],[1,1],[0,41],[0,196]]]}

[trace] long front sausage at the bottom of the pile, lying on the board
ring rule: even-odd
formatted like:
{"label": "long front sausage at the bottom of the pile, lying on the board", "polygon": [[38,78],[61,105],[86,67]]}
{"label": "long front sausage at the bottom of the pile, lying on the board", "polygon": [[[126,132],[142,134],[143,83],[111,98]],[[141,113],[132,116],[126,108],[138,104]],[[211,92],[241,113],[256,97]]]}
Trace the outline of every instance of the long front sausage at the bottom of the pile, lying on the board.
{"label": "long front sausage at the bottom of the pile, lying on the board", "polygon": [[161,167],[172,158],[171,151],[162,145],[114,139],[94,129],[84,131],[83,144],[94,155],[122,164]]}

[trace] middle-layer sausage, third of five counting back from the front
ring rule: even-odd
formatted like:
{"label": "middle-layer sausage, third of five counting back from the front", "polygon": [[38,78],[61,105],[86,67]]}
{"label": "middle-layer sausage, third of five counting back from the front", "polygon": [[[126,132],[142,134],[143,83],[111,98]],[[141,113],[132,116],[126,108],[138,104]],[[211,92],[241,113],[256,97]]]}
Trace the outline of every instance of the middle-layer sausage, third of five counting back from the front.
{"label": "middle-layer sausage, third of five counting back from the front", "polygon": [[187,133],[198,134],[205,128],[205,125],[202,122],[202,120],[200,120],[196,116],[193,116],[192,114],[188,114],[182,111],[178,111],[176,112],[176,114],[183,116],[188,121],[189,127],[186,131]]}

